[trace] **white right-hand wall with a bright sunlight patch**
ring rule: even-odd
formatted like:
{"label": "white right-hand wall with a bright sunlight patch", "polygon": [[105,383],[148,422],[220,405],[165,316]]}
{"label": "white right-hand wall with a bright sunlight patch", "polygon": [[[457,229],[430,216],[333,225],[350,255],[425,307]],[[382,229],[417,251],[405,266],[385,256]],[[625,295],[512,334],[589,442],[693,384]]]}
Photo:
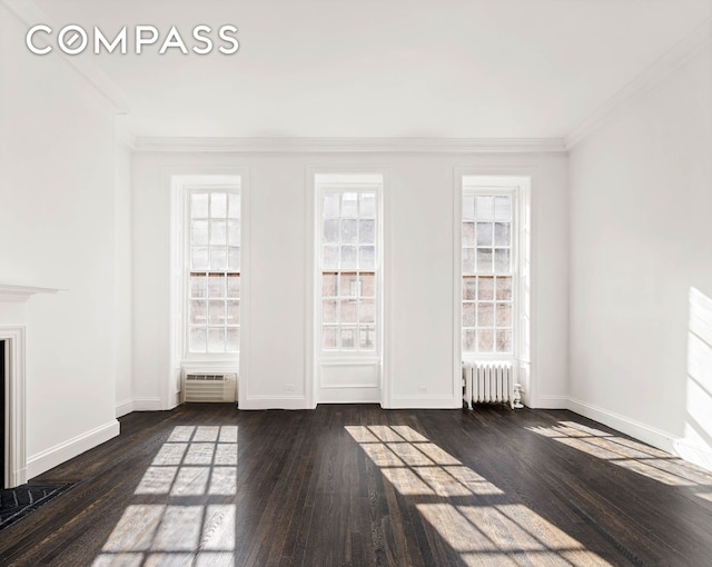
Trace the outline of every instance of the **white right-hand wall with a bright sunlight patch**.
{"label": "white right-hand wall with a bright sunlight patch", "polygon": [[708,48],[570,155],[571,407],[708,466],[711,150]]}

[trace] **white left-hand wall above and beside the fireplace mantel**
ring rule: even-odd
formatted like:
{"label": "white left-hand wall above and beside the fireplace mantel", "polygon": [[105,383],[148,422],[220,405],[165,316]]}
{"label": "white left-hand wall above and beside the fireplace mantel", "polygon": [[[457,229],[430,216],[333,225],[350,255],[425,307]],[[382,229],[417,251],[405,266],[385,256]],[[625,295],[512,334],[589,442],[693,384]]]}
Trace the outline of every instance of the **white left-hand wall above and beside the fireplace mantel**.
{"label": "white left-hand wall above and beside the fireplace mantel", "polygon": [[0,4],[0,281],[66,288],[24,306],[32,477],[118,434],[118,300],[113,109],[26,30]]}

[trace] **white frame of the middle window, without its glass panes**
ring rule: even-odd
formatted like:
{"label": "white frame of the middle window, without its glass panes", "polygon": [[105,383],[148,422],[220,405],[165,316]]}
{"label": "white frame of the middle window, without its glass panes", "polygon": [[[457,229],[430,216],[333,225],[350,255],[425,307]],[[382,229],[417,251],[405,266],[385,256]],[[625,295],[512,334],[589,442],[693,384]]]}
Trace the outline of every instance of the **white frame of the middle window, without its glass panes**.
{"label": "white frame of the middle window, without its glass panes", "polygon": [[[315,315],[315,352],[317,359],[320,361],[355,361],[364,364],[376,364],[380,361],[383,357],[383,338],[384,338],[384,249],[383,249],[383,187],[384,176],[382,173],[373,172],[355,172],[355,173],[315,173],[314,175],[314,188],[315,188],[315,250],[314,250],[314,266],[315,266],[315,294],[314,302],[316,306]],[[323,258],[322,258],[322,213],[324,192],[366,192],[372,191],[375,193],[375,286],[374,294],[374,326],[375,326],[375,341],[374,350],[325,350],[323,348]],[[332,271],[332,270],[327,270]],[[347,270],[336,270],[347,271]],[[352,270],[348,270],[352,271]],[[353,270],[358,271],[358,270]]]}

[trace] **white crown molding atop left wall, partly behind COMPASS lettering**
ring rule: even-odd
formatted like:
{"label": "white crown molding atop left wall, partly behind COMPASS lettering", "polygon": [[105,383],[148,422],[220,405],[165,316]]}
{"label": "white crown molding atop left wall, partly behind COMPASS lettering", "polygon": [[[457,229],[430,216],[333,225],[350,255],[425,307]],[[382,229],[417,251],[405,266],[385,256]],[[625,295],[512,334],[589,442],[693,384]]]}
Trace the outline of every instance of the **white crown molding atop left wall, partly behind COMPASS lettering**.
{"label": "white crown molding atop left wall, partly behind COMPASS lettering", "polygon": [[[2,0],[2,3],[10,12],[23,24],[31,27],[37,23],[44,23],[52,29],[57,29],[51,18],[47,16],[32,0]],[[40,39],[38,44],[42,42]],[[46,42],[47,43],[47,42]],[[116,86],[107,74],[97,66],[91,63],[87,58],[72,57],[63,53],[61,50],[55,49],[48,56],[37,57],[58,57],[67,66],[78,72],[89,84],[91,84],[102,97],[105,97],[116,108],[117,113],[128,113],[129,102],[126,94]]]}

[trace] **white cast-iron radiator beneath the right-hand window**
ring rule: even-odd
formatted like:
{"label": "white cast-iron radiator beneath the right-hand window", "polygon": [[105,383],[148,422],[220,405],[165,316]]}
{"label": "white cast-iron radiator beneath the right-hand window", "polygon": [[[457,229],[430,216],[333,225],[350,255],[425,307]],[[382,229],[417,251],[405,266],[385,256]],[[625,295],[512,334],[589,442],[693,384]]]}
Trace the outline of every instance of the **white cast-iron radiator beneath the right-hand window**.
{"label": "white cast-iron radiator beneath the right-hand window", "polygon": [[469,409],[473,404],[508,404],[514,409],[515,386],[518,390],[511,362],[463,362],[463,399]]}

